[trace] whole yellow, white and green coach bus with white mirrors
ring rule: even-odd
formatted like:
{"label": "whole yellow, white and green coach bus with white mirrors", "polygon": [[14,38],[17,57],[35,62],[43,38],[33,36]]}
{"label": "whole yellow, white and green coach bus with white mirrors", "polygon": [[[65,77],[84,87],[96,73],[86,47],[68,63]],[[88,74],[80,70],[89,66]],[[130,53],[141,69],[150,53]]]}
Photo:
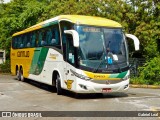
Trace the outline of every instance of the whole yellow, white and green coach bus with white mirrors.
{"label": "whole yellow, white and green coach bus with white mirrors", "polygon": [[11,73],[74,93],[125,92],[130,65],[121,24],[101,17],[60,15],[12,35]]}

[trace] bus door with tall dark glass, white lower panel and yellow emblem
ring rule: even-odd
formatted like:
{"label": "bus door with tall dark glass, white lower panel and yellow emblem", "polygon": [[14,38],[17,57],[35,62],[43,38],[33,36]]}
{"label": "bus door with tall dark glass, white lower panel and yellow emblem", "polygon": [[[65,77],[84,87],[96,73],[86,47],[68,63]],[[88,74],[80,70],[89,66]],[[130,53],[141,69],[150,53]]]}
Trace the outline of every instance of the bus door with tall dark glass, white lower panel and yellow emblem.
{"label": "bus door with tall dark glass, white lower panel and yellow emblem", "polygon": [[62,36],[62,45],[63,45],[63,58],[64,58],[64,87],[67,89],[72,89],[74,76],[72,75],[70,69],[75,65],[75,54],[73,47],[73,37],[70,34],[65,34],[64,30],[73,29],[73,24],[68,21],[60,21],[61,36]]}

